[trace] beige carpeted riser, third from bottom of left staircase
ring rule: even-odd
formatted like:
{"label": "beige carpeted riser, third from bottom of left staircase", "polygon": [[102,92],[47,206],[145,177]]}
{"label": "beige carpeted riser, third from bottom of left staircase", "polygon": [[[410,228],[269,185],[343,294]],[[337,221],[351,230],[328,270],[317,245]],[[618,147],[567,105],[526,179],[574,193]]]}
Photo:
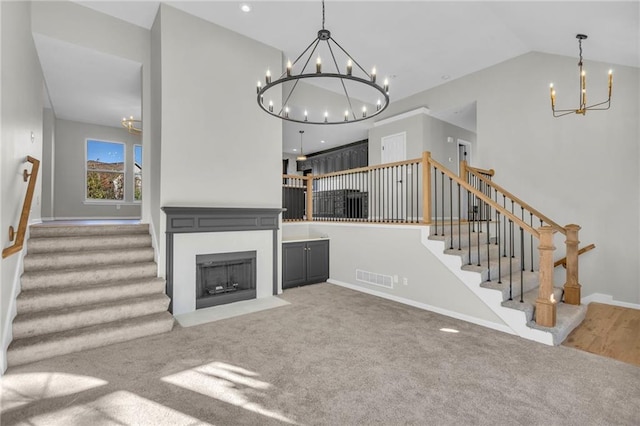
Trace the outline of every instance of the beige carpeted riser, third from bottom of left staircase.
{"label": "beige carpeted riser, third from bottom of left staircase", "polygon": [[145,280],[127,285],[89,286],[72,292],[36,293],[30,297],[24,295],[31,292],[23,292],[18,296],[16,306],[19,313],[29,313],[164,293],[164,289],[164,280]]}

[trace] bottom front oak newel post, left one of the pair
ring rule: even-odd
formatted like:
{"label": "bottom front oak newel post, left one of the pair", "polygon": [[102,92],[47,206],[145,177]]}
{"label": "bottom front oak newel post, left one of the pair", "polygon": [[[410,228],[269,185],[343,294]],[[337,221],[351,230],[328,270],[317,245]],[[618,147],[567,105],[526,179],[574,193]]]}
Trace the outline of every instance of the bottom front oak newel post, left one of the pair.
{"label": "bottom front oak newel post, left one of the pair", "polygon": [[551,226],[541,226],[540,232],[540,288],[536,299],[536,324],[543,327],[556,325],[556,300],[553,297],[553,234]]}

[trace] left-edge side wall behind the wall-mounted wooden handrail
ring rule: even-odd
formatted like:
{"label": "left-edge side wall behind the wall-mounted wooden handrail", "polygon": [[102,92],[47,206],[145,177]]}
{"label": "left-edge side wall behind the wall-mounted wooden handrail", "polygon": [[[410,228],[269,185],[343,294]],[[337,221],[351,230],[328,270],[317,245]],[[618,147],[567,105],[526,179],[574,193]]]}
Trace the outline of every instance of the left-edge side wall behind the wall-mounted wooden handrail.
{"label": "left-edge side wall behind the wall-mounted wooden handrail", "polygon": [[[11,245],[9,226],[17,229],[20,211],[27,189],[22,170],[31,169],[25,158],[42,158],[43,80],[40,63],[31,36],[30,9],[27,2],[1,2],[2,131],[1,176],[2,205],[0,206],[0,241],[2,248]],[[34,137],[32,139],[31,134]],[[38,177],[30,220],[39,221],[41,176]],[[5,368],[5,350],[11,339],[11,320],[15,315],[14,299],[22,272],[22,252],[2,259],[0,282],[0,319],[2,348],[0,370]]]}

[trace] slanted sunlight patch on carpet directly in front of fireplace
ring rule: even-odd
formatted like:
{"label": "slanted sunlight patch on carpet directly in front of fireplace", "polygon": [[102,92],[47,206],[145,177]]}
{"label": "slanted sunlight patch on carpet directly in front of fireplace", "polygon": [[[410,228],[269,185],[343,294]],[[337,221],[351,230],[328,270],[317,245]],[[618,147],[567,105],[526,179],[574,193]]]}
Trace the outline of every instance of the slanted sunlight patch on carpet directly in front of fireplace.
{"label": "slanted sunlight patch on carpet directly in front of fireplace", "polygon": [[282,422],[296,424],[274,410],[262,406],[255,399],[268,399],[266,391],[273,385],[256,379],[258,373],[242,367],[212,362],[162,378],[163,382],[215,398],[219,401]]}

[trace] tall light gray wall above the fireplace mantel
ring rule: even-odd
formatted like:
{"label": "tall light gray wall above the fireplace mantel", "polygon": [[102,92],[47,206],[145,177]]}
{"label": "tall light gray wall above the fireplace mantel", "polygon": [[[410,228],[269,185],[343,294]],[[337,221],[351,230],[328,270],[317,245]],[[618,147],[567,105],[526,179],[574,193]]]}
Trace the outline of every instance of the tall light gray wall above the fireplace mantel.
{"label": "tall light gray wall above the fireplace mantel", "polygon": [[161,5],[161,204],[280,207],[282,123],[255,101],[281,53]]}

